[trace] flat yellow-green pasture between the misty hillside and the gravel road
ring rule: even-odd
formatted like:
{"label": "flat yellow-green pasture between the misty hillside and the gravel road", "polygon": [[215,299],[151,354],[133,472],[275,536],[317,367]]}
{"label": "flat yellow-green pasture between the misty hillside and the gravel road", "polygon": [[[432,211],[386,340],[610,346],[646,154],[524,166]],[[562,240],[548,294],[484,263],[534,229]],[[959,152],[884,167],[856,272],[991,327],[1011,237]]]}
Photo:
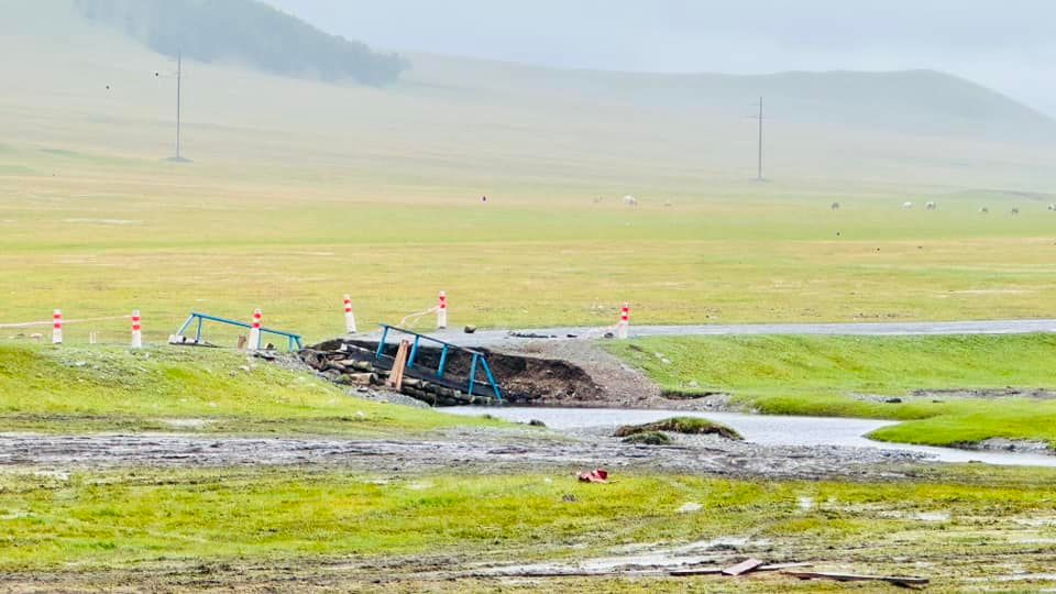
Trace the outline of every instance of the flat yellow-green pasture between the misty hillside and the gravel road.
{"label": "flat yellow-green pasture between the misty hillside and the gravel road", "polygon": [[[612,188],[594,204],[582,189],[521,187],[482,205],[454,188],[7,160],[30,173],[0,172],[0,324],[56,307],[68,319],[139,308],[161,341],[191,310],[248,320],[261,307],[268,326],[316,340],[342,331],[345,293],[369,329],[431,307],[441,289],[454,326],[607,326],[624,301],[641,323],[1054,316],[1056,216],[1034,204],[1009,217],[1009,197],[989,201],[989,217],[978,198],[906,212],[895,191],[846,190],[856,199],[794,184],[674,190],[638,209]],[[128,333],[102,322],[67,336],[84,343],[90,330]]]}

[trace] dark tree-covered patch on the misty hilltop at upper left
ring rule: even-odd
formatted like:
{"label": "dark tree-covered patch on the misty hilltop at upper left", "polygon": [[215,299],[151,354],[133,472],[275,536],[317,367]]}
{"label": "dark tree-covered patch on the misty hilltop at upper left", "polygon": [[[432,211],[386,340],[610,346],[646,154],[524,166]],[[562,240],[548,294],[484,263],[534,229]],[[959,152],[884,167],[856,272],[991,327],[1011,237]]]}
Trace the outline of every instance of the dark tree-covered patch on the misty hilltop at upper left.
{"label": "dark tree-covered patch on the misty hilltop at upper left", "polygon": [[168,56],[240,61],[282,76],[365,85],[394,82],[409,67],[398,55],[329,35],[255,0],[76,0],[74,6]]}

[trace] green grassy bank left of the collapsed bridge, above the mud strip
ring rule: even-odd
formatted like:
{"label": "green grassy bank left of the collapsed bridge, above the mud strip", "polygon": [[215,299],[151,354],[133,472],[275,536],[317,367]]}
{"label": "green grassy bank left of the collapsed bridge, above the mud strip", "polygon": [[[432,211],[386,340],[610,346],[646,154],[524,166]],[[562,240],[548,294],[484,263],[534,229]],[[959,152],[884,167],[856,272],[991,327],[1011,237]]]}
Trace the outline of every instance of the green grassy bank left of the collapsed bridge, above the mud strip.
{"label": "green grassy bank left of the collapsed bridge, above the mud strip", "polygon": [[0,345],[0,431],[372,436],[464,425],[501,426],[350,397],[233,351]]}

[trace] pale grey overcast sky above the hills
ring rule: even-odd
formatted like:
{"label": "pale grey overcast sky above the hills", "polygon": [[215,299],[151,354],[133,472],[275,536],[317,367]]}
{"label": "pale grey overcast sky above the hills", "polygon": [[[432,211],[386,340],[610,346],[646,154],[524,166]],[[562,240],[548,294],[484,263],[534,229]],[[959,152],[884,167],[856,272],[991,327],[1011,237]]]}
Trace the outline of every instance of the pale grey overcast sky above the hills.
{"label": "pale grey overcast sky above the hills", "polygon": [[645,72],[934,68],[1056,114],[1054,0],[266,0],[395,51]]}

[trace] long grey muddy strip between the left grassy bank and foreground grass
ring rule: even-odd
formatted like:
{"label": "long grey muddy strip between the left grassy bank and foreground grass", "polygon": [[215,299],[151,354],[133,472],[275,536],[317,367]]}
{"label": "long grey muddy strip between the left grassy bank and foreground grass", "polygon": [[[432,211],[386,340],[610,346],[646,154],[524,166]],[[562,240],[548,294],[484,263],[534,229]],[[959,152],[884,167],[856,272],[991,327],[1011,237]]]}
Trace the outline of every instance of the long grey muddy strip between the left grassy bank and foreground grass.
{"label": "long grey muddy strip between the left grassy bank and foreground grass", "polygon": [[198,436],[0,436],[0,468],[341,466],[363,471],[572,472],[583,468],[644,469],[715,476],[898,479],[895,466],[922,454],[876,448],[763,446],[681,438],[672,447],[622,443],[603,436],[452,431],[424,440],[250,439]]}

